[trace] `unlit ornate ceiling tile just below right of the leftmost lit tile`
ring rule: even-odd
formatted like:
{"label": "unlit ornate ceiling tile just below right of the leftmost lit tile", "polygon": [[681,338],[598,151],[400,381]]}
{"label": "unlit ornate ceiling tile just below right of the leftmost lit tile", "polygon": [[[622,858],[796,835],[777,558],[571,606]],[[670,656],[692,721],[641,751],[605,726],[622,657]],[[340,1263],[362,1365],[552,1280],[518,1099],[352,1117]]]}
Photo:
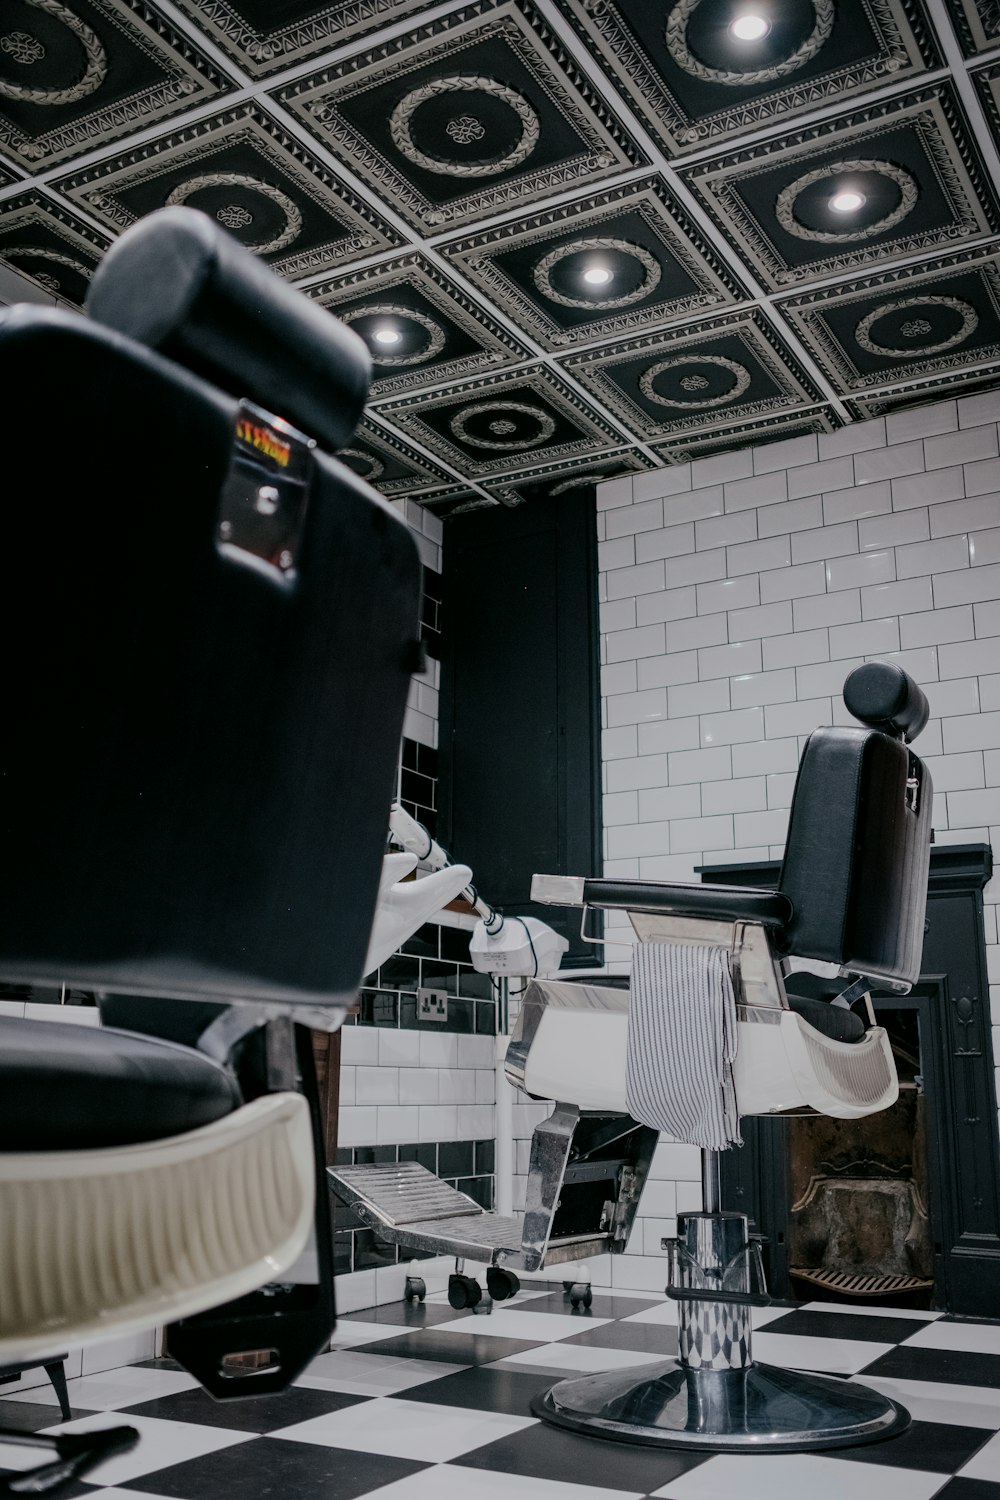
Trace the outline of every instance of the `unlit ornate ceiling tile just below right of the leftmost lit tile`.
{"label": "unlit ornate ceiling tile just below right of the leftmost lit tile", "polygon": [[379,416],[472,480],[573,462],[625,441],[543,366],[388,402]]}

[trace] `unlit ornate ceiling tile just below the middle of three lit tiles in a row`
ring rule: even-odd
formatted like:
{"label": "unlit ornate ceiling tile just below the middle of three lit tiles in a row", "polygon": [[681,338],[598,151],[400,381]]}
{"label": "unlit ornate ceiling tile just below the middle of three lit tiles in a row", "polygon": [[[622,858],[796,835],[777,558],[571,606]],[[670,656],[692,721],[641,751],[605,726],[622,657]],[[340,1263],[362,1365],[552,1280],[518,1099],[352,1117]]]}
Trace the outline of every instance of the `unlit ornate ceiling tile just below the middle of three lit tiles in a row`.
{"label": "unlit ornate ceiling tile just below the middle of three lit tiles in a row", "polygon": [[648,441],[813,405],[819,392],[760,312],[571,354],[565,369]]}

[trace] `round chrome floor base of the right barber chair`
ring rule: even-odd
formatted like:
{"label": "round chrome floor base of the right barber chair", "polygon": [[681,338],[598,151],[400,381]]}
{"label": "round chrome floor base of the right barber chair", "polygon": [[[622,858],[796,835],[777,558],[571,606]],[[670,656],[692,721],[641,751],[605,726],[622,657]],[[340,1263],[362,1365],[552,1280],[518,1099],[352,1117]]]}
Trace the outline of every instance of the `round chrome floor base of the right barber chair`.
{"label": "round chrome floor base of the right barber chair", "polygon": [[757,1364],[696,1370],[676,1359],[562,1380],[531,1408],[588,1437],[715,1454],[877,1443],[910,1425],[904,1407],[847,1380]]}

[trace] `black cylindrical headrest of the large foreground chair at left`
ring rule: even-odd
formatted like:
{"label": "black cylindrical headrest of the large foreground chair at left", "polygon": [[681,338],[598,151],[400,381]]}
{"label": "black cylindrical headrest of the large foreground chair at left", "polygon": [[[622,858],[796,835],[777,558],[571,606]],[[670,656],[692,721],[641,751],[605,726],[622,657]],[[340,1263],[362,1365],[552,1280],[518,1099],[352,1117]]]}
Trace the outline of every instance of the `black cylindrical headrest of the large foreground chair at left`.
{"label": "black cylindrical headrest of the large foreground chair at left", "polygon": [[97,267],[87,312],[331,452],[361,416],[364,342],[196,208],[162,208],[123,234]]}

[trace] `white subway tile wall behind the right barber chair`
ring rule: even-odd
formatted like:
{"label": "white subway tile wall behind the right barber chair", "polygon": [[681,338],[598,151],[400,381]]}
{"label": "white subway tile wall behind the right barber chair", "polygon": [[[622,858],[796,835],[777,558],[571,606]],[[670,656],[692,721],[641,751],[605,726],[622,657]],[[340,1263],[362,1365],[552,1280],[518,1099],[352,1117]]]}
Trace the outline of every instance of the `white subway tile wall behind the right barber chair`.
{"label": "white subway tile wall behind the right barber chair", "polygon": [[[601,562],[606,873],[778,858],[802,741],[853,722],[841,687],[873,658],[928,694],[939,843],[1000,848],[999,418],[996,393],[972,396],[598,486],[598,522],[613,507],[643,548]],[[985,902],[1000,1056],[1000,878]],[[631,930],[607,936],[627,972]],[[697,1206],[697,1152],[661,1143],[655,1172],[603,1284],[663,1287],[660,1232]]]}

